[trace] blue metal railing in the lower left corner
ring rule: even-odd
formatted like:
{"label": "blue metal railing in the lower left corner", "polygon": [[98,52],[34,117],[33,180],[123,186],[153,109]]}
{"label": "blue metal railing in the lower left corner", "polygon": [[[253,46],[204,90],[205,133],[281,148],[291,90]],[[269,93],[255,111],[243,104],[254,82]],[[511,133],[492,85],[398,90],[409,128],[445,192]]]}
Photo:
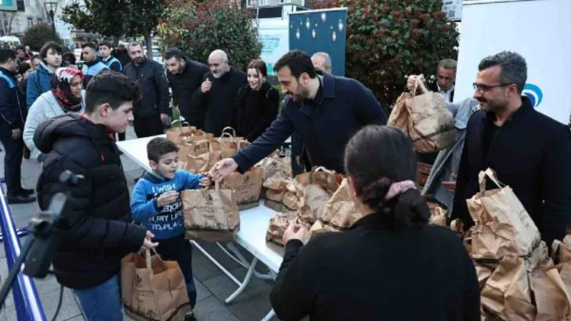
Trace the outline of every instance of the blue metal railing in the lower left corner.
{"label": "blue metal railing in the lower left corner", "polygon": [[[6,250],[6,262],[10,270],[20,255],[21,245],[18,238],[18,231],[12,220],[10,208],[6,203],[4,194],[4,178],[0,179],[0,228],[4,239],[4,249]],[[6,275],[7,276],[7,275]],[[22,272],[12,285],[12,295],[14,296],[14,307],[16,307],[16,317],[18,321],[46,321],[44,309],[36,291],[34,280]]]}

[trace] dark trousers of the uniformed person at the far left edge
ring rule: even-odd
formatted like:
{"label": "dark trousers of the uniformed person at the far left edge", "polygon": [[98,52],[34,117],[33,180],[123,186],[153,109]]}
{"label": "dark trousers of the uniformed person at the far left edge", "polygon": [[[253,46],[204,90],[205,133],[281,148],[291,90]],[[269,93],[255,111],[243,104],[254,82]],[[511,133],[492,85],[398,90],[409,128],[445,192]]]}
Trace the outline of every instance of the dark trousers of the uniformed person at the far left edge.
{"label": "dark trousers of the uniformed person at the far left edge", "polygon": [[24,158],[24,141],[22,138],[12,139],[10,136],[0,136],[4,145],[4,178],[8,195],[16,195],[21,192],[21,167]]}

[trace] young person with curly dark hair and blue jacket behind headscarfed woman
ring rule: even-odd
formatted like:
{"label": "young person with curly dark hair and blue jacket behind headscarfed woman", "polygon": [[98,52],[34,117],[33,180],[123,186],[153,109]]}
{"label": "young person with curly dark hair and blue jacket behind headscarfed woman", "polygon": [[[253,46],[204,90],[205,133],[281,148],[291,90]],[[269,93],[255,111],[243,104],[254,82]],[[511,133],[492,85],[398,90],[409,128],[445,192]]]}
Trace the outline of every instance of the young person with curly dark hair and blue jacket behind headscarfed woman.
{"label": "young person with curly dark hair and blue jacket behind headscarfed woman", "polygon": [[42,93],[50,90],[51,76],[61,66],[62,54],[61,46],[54,41],[48,41],[41,47],[40,63],[36,72],[28,78],[28,93],[26,95],[28,108]]}

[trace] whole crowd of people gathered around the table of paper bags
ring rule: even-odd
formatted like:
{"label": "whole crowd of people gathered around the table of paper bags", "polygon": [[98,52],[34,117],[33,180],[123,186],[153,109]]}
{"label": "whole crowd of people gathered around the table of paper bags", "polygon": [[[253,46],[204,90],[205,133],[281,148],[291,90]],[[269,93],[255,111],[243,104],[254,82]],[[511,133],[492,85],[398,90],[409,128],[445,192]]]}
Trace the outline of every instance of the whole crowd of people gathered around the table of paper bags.
{"label": "whole crowd of people gathered around the table of paper bags", "polygon": [[[453,113],[457,141],[419,155],[410,138],[384,126],[385,108],[370,89],[332,74],[326,53],[293,50],[274,64],[285,95],[280,101],[260,59],[241,71],[222,50],[205,64],[171,48],[162,66],[146,58],[141,44],[125,50],[128,62],[112,56],[109,44],[84,44],[79,70],[55,43],[41,49],[35,66],[34,57],[26,63],[21,52],[0,49],[8,200],[34,201],[34,190],[20,183],[25,143],[43,166],[36,188],[40,207],[47,208],[55,193],[71,193],[54,270],[76,293],[87,320],[122,320],[121,258],[145,249],[178,261],[194,307],[181,190],[244,173],[290,137],[294,172],[324,166],[344,173],[364,217],[344,233],[320,235],[307,245],[305,228],[289,226],[271,292],[281,320],[480,320],[475,267],[456,235],[428,225],[426,202],[438,203],[469,228],[465,200],[479,190],[478,173],[485,168],[510,185],[548,244],[562,240],[571,223],[570,128],[522,96],[527,64],[519,54],[483,58],[473,97],[456,102],[456,62],[435,66],[428,87]],[[422,78],[410,76],[403,90],[413,90]],[[231,126],[251,144],[208,173],[192,175],[178,170],[173,143],[154,138],[147,146],[152,172],[138,180],[131,198],[115,134],[124,139],[129,123],[138,137],[164,133],[171,98],[189,125],[215,136]],[[433,164],[422,190],[415,184],[418,161]],[[64,170],[84,178],[66,185],[59,181]],[[173,220],[168,230],[154,228],[161,215]],[[185,320],[196,318],[190,313]]]}

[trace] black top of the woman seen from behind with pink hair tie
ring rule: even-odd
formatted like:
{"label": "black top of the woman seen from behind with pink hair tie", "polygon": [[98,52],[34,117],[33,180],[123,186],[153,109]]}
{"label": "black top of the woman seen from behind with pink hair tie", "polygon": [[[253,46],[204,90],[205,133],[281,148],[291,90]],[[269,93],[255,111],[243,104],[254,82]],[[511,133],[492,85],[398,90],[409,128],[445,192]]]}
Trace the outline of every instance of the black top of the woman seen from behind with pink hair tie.
{"label": "black top of the woman seen from behind with pink hair tie", "polygon": [[305,246],[290,240],[271,303],[282,321],[480,320],[460,238],[435,225],[394,230],[378,214]]}

